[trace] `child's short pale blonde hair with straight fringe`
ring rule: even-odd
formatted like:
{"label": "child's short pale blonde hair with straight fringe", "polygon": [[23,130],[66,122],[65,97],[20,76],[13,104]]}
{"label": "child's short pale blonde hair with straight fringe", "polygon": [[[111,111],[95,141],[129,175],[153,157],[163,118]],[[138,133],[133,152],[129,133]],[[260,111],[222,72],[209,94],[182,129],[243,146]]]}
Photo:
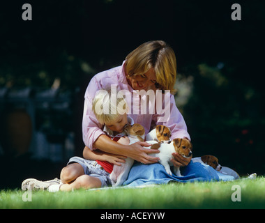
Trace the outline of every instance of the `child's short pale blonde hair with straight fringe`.
{"label": "child's short pale blonde hair with straight fringe", "polygon": [[[118,94],[119,95],[119,94]],[[101,125],[115,121],[128,112],[126,100],[110,90],[99,90],[92,102],[92,110]]]}

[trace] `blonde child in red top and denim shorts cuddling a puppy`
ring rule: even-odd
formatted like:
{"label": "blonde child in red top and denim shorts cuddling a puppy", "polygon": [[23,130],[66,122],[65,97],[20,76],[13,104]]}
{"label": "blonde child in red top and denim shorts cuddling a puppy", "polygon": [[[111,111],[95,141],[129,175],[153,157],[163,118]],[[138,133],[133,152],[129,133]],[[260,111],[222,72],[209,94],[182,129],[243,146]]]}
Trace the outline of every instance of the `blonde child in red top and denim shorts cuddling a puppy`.
{"label": "blonde child in red top and denim shorts cuddling a puppy", "polygon": [[[133,125],[132,118],[128,117],[126,102],[123,98],[116,98],[116,105],[110,100],[109,91],[100,90],[92,102],[93,113],[98,122],[104,126],[104,132],[112,140],[120,144],[129,144],[128,137],[124,137],[123,132],[126,125]],[[107,109],[106,109],[106,105]],[[91,151],[88,147],[84,148],[84,157],[70,158],[66,167],[61,170],[60,180],[48,180],[42,182],[35,179],[27,179],[22,183],[23,187],[33,187],[32,189],[46,189],[50,192],[70,191],[79,188],[97,188],[111,185],[109,174],[112,172],[113,165],[125,162],[123,155],[114,155],[102,151]]]}

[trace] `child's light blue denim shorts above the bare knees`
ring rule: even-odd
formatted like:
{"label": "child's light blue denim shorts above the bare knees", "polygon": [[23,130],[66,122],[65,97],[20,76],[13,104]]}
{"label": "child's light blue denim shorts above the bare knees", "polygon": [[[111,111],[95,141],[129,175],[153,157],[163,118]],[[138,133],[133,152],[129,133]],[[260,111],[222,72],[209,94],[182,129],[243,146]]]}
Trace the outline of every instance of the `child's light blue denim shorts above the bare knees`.
{"label": "child's light blue denim shorts above the bare knees", "polygon": [[68,164],[77,162],[84,169],[84,174],[99,178],[101,181],[101,187],[109,187],[112,185],[112,181],[109,178],[109,173],[103,169],[95,160],[85,160],[84,158],[74,156],[70,158]]}

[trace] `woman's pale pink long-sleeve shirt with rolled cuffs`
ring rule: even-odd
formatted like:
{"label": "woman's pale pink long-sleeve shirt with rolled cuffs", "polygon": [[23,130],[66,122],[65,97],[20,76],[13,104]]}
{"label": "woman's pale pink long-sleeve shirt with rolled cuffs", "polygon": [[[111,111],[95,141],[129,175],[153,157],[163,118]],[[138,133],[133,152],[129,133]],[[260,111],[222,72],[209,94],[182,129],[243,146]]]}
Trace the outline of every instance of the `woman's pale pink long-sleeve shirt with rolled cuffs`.
{"label": "woman's pale pink long-sleeve shirt with rolled cuffs", "polygon": [[169,91],[165,94],[152,90],[147,91],[146,94],[145,91],[135,91],[127,82],[124,62],[121,66],[98,73],[89,82],[84,95],[82,122],[84,144],[91,150],[96,149],[93,143],[101,134],[105,134],[103,125],[98,123],[92,111],[93,98],[100,89],[112,89],[112,92],[116,89],[116,93],[125,95],[129,107],[127,115],[135,123],[143,125],[146,133],[151,130],[152,126],[165,125],[170,128],[172,139],[184,137],[190,139],[183,116],[176,107],[174,95]]}

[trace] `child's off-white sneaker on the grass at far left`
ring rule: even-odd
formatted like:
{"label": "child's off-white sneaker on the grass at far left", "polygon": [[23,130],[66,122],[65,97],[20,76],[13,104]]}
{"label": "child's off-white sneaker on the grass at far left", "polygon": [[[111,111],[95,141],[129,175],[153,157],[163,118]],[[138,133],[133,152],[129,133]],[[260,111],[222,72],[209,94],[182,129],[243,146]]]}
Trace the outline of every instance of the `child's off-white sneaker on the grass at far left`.
{"label": "child's off-white sneaker on the grass at far left", "polygon": [[53,180],[41,181],[33,178],[26,179],[22,182],[22,190],[47,190],[50,185],[59,185],[61,180],[54,178]]}

